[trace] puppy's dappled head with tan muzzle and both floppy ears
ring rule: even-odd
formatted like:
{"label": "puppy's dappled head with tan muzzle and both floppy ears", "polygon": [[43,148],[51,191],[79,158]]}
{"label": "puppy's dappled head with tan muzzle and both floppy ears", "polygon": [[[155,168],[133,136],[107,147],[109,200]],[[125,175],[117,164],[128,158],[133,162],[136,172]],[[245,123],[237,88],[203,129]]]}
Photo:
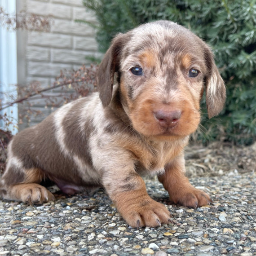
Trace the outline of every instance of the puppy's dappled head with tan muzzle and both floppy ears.
{"label": "puppy's dappled head with tan muzzle and both floppy ears", "polygon": [[147,137],[172,139],[194,132],[204,88],[209,118],[225,104],[225,84],[211,49],[173,22],[147,23],[115,37],[97,73],[104,107],[111,102],[115,72],[124,111]]}

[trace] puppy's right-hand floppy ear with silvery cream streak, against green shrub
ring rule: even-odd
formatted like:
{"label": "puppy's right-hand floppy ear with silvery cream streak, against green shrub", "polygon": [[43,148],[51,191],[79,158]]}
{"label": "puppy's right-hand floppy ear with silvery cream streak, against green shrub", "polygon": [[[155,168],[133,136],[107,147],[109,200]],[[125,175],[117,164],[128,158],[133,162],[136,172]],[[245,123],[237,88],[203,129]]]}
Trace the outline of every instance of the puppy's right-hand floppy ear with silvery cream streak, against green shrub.
{"label": "puppy's right-hand floppy ear with silvery cream streak, against green shrub", "polygon": [[226,88],[214,62],[213,53],[208,46],[205,46],[204,53],[208,69],[208,74],[205,76],[206,105],[208,117],[212,118],[213,116],[218,115],[225,105]]}

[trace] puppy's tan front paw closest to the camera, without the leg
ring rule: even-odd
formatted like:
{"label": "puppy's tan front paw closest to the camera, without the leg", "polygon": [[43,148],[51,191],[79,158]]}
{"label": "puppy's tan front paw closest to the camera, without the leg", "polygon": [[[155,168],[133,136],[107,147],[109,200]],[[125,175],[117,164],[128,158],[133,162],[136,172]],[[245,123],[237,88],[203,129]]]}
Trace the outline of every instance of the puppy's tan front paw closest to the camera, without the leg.
{"label": "puppy's tan front paw closest to the camera, without the leg", "polygon": [[[137,200],[135,200],[137,201]],[[133,228],[143,226],[157,227],[162,223],[170,223],[171,214],[167,208],[149,196],[140,200],[140,203],[124,203],[117,207],[124,220]]]}

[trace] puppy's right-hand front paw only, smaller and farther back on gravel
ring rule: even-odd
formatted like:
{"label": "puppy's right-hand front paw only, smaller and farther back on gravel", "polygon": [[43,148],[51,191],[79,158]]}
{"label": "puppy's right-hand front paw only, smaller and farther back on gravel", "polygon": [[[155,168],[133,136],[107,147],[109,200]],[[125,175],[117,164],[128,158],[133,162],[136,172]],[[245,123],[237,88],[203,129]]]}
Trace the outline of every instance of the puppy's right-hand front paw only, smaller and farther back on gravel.
{"label": "puppy's right-hand front paw only, smaller and farther back on gravel", "polygon": [[177,190],[176,193],[170,195],[171,201],[177,204],[180,203],[189,208],[201,207],[210,204],[212,199],[202,190],[196,189],[193,186]]}

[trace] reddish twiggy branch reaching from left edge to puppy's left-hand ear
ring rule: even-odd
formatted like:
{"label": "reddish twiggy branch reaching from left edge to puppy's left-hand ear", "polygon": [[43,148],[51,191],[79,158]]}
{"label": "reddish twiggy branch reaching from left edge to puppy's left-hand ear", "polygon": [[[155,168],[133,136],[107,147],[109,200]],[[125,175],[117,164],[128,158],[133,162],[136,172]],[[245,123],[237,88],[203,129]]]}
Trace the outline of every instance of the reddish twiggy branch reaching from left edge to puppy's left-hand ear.
{"label": "reddish twiggy branch reaching from left edge to puppy's left-hand ear", "polygon": [[[97,90],[95,81],[97,68],[98,66],[92,64],[88,68],[83,65],[78,70],[60,71],[60,75],[56,78],[56,81],[47,88],[41,88],[38,81],[33,81],[29,86],[18,84],[18,99],[12,94],[9,94],[8,98],[11,100],[4,104],[0,102],[0,111],[14,104],[26,103],[23,110],[21,107],[19,108],[19,110],[22,110],[19,111],[19,123],[22,123],[24,117],[30,122],[31,115],[37,116],[42,114],[42,111],[33,109],[37,100],[44,99],[45,106],[54,108],[79,97],[86,97],[91,91]],[[51,92],[50,94],[46,93],[54,89],[58,89],[59,92],[57,90],[57,92]],[[0,119],[3,120],[6,126],[13,124],[13,120],[10,120],[5,114],[0,115]]]}

